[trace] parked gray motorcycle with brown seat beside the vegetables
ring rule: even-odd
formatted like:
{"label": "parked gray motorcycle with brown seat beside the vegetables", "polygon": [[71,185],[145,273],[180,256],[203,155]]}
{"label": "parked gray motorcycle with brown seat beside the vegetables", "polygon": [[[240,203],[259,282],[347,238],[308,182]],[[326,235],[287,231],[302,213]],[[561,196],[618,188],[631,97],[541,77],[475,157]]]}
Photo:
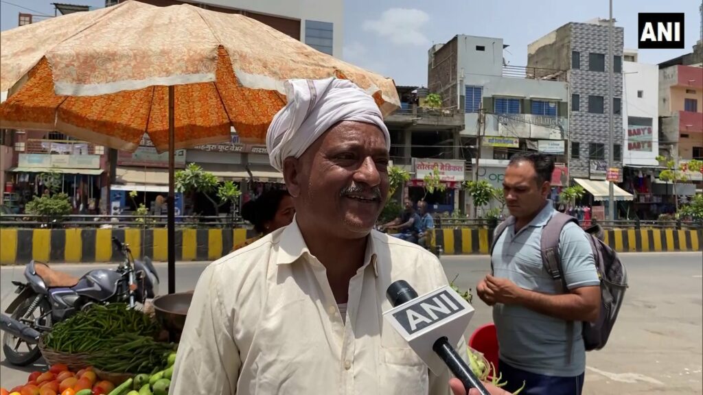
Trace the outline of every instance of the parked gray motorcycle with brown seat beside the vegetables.
{"label": "parked gray motorcycle with brown seat beside the vegetables", "polygon": [[[124,261],[116,270],[96,269],[81,278],[31,261],[25,266],[26,283],[13,281],[18,297],[0,315],[3,351],[10,363],[25,366],[41,356],[39,337],[53,324],[86,309],[91,304],[127,302],[130,309],[158,294],[159,276],[145,257],[135,261],[129,245],[112,238]],[[27,351],[20,351],[22,344]]]}

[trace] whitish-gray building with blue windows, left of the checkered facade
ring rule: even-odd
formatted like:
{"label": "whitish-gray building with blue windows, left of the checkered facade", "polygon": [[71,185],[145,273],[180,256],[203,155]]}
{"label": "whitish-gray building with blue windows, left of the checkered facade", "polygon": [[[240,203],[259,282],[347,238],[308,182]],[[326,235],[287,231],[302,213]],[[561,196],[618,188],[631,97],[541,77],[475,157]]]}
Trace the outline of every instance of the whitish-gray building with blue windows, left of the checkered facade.
{"label": "whitish-gray building with blue windows, left of the checkered facade", "polygon": [[[550,153],[564,163],[569,130],[567,84],[557,80],[566,70],[505,65],[505,47],[503,39],[457,35],[432,46],[428,65],[430,92],[464,115],[456,141],[470,147],[460,150],[465,178],[498,188],[517,151]],[[565,170],[562,164],[555,171],[556,186],[566,180]]]}

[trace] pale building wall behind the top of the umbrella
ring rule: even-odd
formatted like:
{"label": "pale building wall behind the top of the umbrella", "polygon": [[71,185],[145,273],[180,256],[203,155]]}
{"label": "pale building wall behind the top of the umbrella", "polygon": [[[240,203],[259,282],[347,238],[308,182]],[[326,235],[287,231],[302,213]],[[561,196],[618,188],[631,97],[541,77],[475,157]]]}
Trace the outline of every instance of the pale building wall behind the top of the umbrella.
{"label": "pale building wall behind the top of the umbrella", "polygon": [[305,20],[332,22],[333,55],[342,57],[344,38],[344,4],[342,0],[201,0],[203,3],[229,8],[239,8],[257,13],[299,19],[300,39],[305,42]]}

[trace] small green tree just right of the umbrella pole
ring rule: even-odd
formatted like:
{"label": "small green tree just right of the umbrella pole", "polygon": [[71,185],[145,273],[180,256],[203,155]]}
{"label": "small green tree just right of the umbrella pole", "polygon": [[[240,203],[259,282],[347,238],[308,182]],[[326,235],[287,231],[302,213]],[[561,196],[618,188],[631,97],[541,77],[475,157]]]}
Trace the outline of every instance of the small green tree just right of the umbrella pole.
{"label": "small green tree just right of the umbrella pole", "polygon": [[[235,202],[241,195],[239,188],[234,183],[228,181],[220,185],[214,174],[204,171],[202,167],[195,163],[190,163],[186,169],[176,171],[175,174],[176,191],[179,193],[199,192],[207,197],[215,209],[215,215],[219,213],[219,208],[227,202]],[[219,197],[220,201],[214,200],[212,195]]]}

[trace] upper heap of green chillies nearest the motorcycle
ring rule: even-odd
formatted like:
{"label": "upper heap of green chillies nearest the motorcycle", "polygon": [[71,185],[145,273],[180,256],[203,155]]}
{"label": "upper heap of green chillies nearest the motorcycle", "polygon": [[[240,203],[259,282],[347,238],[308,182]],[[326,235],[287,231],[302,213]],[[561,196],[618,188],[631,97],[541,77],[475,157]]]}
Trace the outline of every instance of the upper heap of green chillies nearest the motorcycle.
{"label": "upper heap of green chillies nearest the motorcycle", "polygon": [[93,304],[54,325],[44,344],[56,351],[83,353],[103,349],[105,339],[123,333],[154,337],[160,330],[154,318],[129,309],[126,303]]}

